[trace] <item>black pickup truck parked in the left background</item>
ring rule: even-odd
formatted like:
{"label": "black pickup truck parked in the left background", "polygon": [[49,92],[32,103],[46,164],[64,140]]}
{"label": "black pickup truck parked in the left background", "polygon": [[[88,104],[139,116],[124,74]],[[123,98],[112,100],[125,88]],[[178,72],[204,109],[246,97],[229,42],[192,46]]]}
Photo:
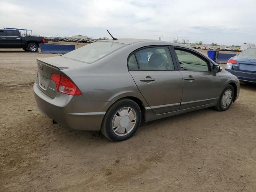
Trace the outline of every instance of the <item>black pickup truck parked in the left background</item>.
{"label": "black pickup truck parked in the left background", "polygon": [[43,37],[21,36],[18,30],[0,29],[0,48],[22,48],[24,51],[37,52]]}

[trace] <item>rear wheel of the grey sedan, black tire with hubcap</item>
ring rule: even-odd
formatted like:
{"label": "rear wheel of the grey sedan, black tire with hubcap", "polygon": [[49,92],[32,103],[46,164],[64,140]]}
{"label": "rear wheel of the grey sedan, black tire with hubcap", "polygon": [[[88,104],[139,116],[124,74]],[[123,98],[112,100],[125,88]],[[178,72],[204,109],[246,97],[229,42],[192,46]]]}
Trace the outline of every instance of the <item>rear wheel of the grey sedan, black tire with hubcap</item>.
{"label": "rear wheel of the grey sedan, black tire with hubcap", "polygon": [[126,140],[135,134],[140,122],[141,111],[138,104],[130,99],[121,99],[106,112],[101,132],[112,141]]}

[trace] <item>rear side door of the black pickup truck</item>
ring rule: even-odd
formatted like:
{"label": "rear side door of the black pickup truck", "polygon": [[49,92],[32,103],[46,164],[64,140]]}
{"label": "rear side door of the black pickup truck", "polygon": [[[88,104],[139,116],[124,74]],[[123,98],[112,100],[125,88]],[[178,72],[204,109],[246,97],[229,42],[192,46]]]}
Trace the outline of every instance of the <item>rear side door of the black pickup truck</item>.
{"label": "rear side door of the black pickup truck", "polygon": [[20,32],[17,30],[6,30],[6,42],[8,42],[8,48],[22,48]]}

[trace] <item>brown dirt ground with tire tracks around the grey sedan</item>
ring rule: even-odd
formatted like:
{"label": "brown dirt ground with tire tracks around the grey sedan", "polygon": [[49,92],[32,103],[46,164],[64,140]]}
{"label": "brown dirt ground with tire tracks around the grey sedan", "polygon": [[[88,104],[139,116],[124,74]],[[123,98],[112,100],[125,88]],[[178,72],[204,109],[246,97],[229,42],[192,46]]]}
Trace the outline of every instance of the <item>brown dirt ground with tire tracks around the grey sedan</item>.
{"label": "brown dirt ground with tire tracks around the grey sedan", "polygon": [[114,143],[36,108],[35,58],[51,56],[0,50],[0,192],[255,192],[255,85],[241,83],[226,112],[156,120]]}

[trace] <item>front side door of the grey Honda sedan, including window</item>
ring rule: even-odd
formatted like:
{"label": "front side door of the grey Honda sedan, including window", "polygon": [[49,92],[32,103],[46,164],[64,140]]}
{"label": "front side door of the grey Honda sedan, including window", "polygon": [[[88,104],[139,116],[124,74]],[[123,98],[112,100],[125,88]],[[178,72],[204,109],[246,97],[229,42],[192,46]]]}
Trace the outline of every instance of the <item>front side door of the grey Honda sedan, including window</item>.
{"label": "front side door of the grey Honda sedan, including window", "polygon": [[212,72],[210,60],[188,48],[174,47],[183,78],[180,110],[213,104],[220,96],[220,76]]}

